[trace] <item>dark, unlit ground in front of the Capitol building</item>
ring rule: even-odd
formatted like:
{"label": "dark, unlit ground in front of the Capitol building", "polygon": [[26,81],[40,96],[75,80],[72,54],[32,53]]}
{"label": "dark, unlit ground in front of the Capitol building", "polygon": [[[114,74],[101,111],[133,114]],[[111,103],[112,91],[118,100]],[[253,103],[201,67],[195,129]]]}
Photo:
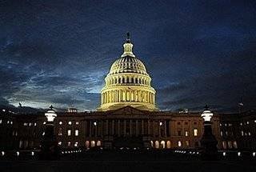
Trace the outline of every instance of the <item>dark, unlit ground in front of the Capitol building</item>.
{"label": "dark, unlit ground in front of the Capitol building", "polygon": [[202,161],[199,156],[188,154],[137,154],[137,153],[79,153],[62,156],[58,161],[21,159],[0,161],[0,171],[243,171],[256,172],[252,159],[225,159]]}

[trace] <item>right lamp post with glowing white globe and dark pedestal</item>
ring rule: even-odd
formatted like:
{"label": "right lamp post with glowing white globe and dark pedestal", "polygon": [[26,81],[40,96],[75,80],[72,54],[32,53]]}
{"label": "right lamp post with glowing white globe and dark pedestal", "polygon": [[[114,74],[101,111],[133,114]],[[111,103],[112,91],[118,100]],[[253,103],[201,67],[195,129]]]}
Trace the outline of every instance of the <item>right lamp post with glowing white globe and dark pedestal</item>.
{"label": "right lamp post with glowing white globe and dark pedestal", "polygon": [[203,126],[204,132],[201,138],[202,158],[206,160],[216,160],[218,158],[218,141],[214,137],[211,128],[210,119],[214,114],[209,110],[209,106],[205,106],[205,110],[202,112],[201,117],[204,119]]}

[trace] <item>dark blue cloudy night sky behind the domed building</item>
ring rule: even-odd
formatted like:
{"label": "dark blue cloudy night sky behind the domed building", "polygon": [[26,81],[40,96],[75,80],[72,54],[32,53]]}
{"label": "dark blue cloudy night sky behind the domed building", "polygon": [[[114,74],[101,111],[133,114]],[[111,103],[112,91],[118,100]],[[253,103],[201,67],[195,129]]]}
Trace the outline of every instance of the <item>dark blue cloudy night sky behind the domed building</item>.
{"label": "dark blue cloudy night sky behind the domed building", "polygon": [[254,0],[0,0],[0,105],[96,109],[127,31],[161,110],[255,108]]}

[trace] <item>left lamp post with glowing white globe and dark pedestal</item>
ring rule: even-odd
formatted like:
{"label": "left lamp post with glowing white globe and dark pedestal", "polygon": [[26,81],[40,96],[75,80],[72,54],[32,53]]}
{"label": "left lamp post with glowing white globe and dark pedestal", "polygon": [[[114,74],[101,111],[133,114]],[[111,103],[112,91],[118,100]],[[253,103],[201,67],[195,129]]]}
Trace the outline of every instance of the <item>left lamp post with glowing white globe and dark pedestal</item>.
{"label": "left lamp post with glowing white globe and dark pedestal", "polygon": [[42,139],[39,158],[45,160],[58,159],[59,149],[54,134],[54,118],[57,117],[57,114],[55,113],[54,107],[52,105],[50,106],[50,109],[45,113],[45,116],[47,118],[46,130]]}

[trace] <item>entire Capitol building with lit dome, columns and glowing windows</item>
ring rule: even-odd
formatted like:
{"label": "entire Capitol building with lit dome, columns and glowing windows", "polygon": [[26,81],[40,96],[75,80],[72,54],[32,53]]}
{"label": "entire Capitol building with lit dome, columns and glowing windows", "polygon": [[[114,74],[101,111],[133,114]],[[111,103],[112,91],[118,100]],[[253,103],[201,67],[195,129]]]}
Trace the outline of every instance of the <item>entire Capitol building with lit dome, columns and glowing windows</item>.
{"label": "entire Capitol building with lit dome, columns and glowing windows", "polygon": [[[54,134],[62,149],[198,149],[203,134],[200,112],[158,109],[156,90],[146,66],[133,52],[127,34],[122,55],[114,61],[101,90],[97,111],[70,108],[55,111]],[[203,110],[202,105],[202,110]],[[212,130],[218,149],[256,149],[254,111],[214,112]],[[46,116],[0,112],[0,146],[6,150],[30,150],[40,146]]]}

